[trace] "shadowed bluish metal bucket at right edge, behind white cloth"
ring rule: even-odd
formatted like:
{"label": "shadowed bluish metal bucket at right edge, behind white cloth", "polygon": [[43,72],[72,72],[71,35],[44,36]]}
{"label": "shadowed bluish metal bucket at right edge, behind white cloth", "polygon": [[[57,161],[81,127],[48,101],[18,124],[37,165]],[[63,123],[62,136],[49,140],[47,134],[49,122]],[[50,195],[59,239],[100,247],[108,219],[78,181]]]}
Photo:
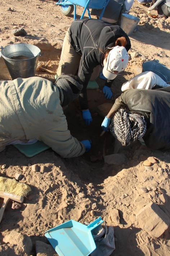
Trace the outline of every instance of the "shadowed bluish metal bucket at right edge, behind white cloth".
{"label": "shadowed bluish metal bucket at right edge, behind white cloth", "polygon": [[148,60],[142,63],[142,71],[152,71],[160,76],[166,83],[170,82],[170,69],[159,63],[158,60]]}

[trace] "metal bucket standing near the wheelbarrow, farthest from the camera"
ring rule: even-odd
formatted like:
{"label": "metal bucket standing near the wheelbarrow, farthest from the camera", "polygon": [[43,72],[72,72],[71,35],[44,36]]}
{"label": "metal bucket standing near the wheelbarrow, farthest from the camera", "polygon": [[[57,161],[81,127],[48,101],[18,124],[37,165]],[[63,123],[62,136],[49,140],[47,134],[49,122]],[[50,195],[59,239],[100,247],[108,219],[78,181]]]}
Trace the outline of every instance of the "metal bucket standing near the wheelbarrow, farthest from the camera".
{"label": "metal bucket standing near the wheelbarrow, farthest from the camera", "polygon": [[139,21],[140,19],[133,15],[122,13],[120,27],[127,35],[130,35],[135,30]]}

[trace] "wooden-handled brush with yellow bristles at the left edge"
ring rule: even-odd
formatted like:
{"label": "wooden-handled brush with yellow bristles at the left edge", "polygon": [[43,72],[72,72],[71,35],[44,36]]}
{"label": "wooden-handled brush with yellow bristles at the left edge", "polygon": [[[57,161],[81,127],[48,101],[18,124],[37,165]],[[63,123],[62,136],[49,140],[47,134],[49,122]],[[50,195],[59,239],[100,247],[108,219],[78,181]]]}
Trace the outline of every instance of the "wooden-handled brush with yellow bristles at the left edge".
{"label": "wooden-handled brush with yellow bristles at the left edge", "polygon": [[0,197],[4,198],[3,205],[0,209],[0,222],[3,218],[4,210],[9,200],[23,202],[24,196],[31,191],[31,188],[15,179],[0,177]]}

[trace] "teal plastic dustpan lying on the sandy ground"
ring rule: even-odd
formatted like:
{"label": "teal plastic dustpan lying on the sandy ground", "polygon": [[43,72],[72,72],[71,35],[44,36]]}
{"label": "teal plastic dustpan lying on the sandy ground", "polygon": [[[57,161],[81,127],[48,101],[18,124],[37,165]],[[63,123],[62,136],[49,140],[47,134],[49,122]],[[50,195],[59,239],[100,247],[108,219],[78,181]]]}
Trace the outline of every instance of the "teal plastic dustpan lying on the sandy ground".
{"label": "teal plastic dustpan lying on the sandy ground", "polygon": [[71,220],[46,231],[45,236],[59,256],[88,256],[96,249],[91,230],[101,223],[101,217],[88,226]]}

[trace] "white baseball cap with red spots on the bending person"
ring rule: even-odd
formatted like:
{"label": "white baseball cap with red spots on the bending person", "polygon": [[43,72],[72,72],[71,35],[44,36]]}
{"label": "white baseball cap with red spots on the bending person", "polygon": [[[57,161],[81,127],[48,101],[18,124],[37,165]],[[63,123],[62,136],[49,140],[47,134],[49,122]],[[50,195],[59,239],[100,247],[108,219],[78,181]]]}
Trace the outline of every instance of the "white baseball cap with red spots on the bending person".
{"label": "white baseball cap with red spots on the bending person", "polygon": [[113,80],[117,76],[117,73],[124,71],[128,65],[128,61],[129,55],[124,46],[113,47],[107,56],[106,63],[104,63],[103,75],[108,80]]}

